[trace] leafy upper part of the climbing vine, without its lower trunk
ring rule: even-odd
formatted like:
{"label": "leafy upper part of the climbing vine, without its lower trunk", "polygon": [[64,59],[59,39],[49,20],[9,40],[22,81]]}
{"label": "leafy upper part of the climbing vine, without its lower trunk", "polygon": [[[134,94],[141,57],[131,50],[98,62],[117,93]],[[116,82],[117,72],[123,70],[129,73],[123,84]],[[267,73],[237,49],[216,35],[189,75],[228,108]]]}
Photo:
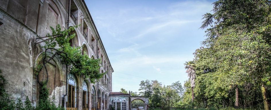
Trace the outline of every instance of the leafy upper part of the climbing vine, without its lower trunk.
{"label": "leafy upper part of the climbing vine, without its lower trunk", "polygon": [[[46,74],[47,69],[45,64],[48,63],[51,59],[56,57],[57,55],[60,56],[61,60],[64,64],[68,67],[69,73],[75,74],[78,76],[82,76],[85,80],[89,79],[91,83],[95,83],[96,79],[100,79],[105,73],[100,73],[100,59],[91,59],[87,56],[87,54],[81,53],[81,47],[70,46],[69,41],[75,37],[75,33],[68,35],[74,31],[77,26],[70,27],[69,29],[65,29],[61,31],[61,26],[56,25],[56,29],[50,27],[52,30],[52,35],[47,34],[48,41],[45,41],[45,45],[42,46],[45,49],[43,53],[43,65],[37,65],[34,71],[39,73],[42,68],[45,68]],[[54,35],[61,35],[60,37],[55,37]],[[47,51],[51,51],[53,55],[51,57],[47,56]],[[46,60],[48,58],[48,60]],[[48,81],[48,77],[47,80]]]}

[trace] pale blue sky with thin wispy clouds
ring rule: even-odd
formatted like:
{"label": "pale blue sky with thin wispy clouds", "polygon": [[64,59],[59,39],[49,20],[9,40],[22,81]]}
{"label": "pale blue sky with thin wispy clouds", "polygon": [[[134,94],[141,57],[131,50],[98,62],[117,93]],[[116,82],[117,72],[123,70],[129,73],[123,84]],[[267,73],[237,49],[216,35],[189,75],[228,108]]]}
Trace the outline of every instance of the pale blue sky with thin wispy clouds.
{"label": "pale blue sky with thin wispy clouds", "polygon": [[86,0],[114,69],[112,91],[138,91],[140,81],[163,85],[188,79],[185,61],[205,39],[199,29],[211,0]]}

